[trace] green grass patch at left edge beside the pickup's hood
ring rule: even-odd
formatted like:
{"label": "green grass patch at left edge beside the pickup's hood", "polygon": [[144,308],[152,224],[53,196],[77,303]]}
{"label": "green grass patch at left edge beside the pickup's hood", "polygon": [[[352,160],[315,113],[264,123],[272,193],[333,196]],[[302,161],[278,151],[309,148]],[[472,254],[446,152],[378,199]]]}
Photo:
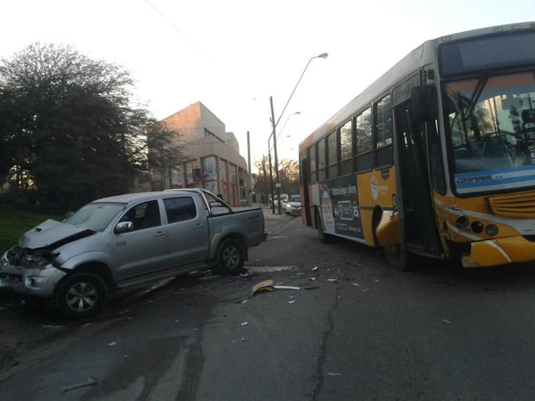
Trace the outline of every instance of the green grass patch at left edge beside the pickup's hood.
{"label": "green grass patch at left edge beside the pickup's hood", "polygon": [[17,245],[22,234],[48,218],[61,221],[65,216],[43,215],[0,205],[0,255]]}

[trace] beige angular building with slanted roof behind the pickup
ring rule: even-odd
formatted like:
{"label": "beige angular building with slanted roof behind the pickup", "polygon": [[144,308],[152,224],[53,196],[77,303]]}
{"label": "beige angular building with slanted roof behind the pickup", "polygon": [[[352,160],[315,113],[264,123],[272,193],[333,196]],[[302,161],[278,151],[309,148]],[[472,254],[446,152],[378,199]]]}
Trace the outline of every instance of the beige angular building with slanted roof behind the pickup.
{"label": "beige angular building with slanted roof behind the pickup", "polygon": [[239,153],[233,133],[225,123],[201,102],[168,116],[161,121],[181,133],[188,160],[169,170],[166,176],[151,174],[153,190],[169,188],[206,188],[232,206],[246,204],[248,167]]}

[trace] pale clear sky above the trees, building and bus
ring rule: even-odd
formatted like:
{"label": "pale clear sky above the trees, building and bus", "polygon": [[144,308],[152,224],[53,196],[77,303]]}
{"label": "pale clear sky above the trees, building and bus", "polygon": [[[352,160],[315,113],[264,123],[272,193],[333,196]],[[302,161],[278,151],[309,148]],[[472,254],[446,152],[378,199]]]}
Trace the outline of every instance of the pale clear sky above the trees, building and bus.
{"label": "pale clear sky above the trees, building and bus", "polygon": [[[236,135],[246,160],[249,132],[253,165],[268,153],[270,98],[280,121],[278,159],[297,160],[299,142],[423,41],[535,21],[533,0],[3,0],[2,5],[1,59],[40,42],[70,45],[92,59],[119,64],[136,82],[135,100],[156,119],[200,101]],[[326,59],[312,59],[324,52]]]}

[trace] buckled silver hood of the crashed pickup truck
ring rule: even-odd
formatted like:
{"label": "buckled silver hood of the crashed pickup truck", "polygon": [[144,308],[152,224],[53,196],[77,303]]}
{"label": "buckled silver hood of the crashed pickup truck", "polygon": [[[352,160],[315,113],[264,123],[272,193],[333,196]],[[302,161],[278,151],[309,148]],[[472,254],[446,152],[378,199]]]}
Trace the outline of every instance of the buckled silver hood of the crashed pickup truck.
{"label": "buckled silver hood of the crashed pickup truck", "polygon": [[22,234],[19,241],[20,248],[59,248],[61,245],[77,241],[95,234],[91,229],[76,227],[56,220],[48,219],[37,227]]}

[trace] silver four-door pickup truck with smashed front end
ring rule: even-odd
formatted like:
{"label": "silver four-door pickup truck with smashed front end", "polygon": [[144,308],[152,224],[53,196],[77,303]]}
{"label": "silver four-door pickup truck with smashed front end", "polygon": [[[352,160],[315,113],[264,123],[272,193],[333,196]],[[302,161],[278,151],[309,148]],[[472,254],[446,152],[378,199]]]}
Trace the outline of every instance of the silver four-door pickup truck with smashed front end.
{"label": "silver four-door pickup truck with smashed front end", "polygon": [[265,239],[262,209],[232,209],[207,190],[107,197],[23,234],[1,257],[0,292],[89,317],[116,289],[200,268],[239,273]]}

